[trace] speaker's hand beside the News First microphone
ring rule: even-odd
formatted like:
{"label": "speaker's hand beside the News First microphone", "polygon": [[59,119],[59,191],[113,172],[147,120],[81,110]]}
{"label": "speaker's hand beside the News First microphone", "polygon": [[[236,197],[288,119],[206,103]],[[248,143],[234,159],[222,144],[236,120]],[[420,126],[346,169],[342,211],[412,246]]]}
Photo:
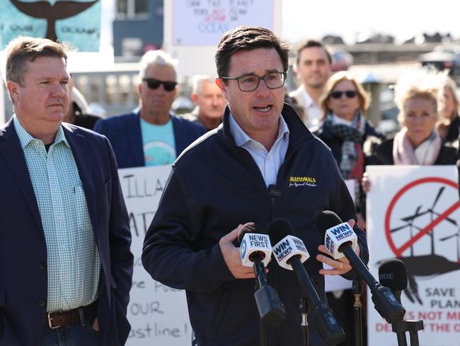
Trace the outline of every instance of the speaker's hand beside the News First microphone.
{"label": "speaker's hand beside the News First microphone", "polygon": [[219,247],[225,264],[236,279],[251,279],[255,277],[252,267],[243,267],[243,264],[241,264],[240,248],[232,244],[246,225],[238,225],[237,228],[219,240]]}

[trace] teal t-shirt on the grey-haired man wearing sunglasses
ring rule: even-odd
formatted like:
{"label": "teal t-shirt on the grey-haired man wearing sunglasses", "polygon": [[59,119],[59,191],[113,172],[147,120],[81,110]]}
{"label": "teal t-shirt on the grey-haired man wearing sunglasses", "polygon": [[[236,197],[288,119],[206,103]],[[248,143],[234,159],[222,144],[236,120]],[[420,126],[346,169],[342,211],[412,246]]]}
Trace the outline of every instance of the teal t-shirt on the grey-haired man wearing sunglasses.
{"label": "teal t-shirt on the grey-haired man wearing sunglasses", "polygon": [[169,119],[164,125],[154,125],[140,119],[145,165],[172,164],[176,160],[173,121]]}

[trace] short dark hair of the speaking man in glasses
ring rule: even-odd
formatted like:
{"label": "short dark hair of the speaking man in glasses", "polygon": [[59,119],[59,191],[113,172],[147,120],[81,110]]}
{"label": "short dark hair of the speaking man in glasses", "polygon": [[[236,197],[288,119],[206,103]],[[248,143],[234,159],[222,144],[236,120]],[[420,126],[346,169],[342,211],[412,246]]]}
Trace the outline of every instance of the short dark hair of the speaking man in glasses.
{"label": "short dark hair of the speaking man in glasses", "polygon": [[257,48],[275,48],[280,55],[284,71],[289,67],[289,46],[272,31],[260,26],[238,26],[222,36],[216,52],[216,67],[219,77],[227,77],[230,58],[234,52]]}

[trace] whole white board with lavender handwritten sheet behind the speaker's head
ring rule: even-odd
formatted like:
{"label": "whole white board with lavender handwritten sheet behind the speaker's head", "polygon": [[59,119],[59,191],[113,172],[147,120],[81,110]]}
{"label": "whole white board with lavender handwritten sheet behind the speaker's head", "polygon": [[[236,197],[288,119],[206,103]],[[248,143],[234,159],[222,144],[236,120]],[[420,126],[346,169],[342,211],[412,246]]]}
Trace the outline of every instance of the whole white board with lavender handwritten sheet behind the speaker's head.
{"label": "whole white board with lavender handwritten sheet behind the speaker's head", "polygon": [[178,59],[178,74],[216,74],[222,35],[237,26],[263,26],[280,34],[281,0],[164,1],[163,48]]}

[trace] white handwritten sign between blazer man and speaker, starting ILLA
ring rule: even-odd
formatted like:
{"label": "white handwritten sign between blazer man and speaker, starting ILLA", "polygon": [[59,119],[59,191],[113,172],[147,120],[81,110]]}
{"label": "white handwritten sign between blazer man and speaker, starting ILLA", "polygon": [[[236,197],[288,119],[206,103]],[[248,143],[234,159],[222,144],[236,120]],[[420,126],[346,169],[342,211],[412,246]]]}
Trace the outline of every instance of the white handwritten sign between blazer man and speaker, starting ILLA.
{"label": "white handwritten sign between blazer man and speaker, starting ILLA", "polygon": [[171,172],[170,166],[119,169],[132,234],[134,274],[127,317],[127,346],[186,346],[192,339],[185,291],[151,279],[142,267],[142,245]]}

